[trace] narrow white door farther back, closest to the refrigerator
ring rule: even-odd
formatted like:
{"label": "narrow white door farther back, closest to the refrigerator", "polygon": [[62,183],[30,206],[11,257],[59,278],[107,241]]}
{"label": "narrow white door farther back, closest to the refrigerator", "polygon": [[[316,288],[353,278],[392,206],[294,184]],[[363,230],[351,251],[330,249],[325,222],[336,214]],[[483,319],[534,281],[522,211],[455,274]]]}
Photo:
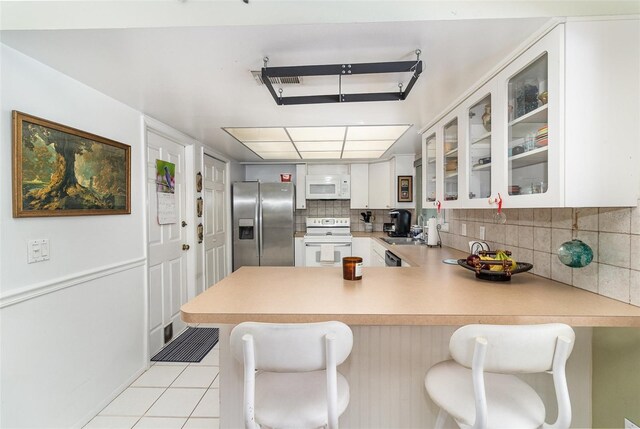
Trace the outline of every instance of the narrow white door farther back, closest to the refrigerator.
{"label": "narrow white door farther back, closest to the refrigerator", "polygon": [[204,156],[204,279],[205,289],[227,276],[227,165]]}

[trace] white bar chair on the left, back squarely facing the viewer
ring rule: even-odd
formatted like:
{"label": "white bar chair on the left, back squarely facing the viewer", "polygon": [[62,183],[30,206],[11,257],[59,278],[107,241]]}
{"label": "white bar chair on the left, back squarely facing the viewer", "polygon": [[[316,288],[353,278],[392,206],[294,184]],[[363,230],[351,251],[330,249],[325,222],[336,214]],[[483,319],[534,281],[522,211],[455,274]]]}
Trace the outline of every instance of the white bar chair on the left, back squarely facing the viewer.
{"label": "white bar chair on the left, back squarely facing the viewer", "polygon": [[244,362],[245,427],[337,429],[349,384],[336,367],[352,346],[341,322],[236,326],[231,352]]}

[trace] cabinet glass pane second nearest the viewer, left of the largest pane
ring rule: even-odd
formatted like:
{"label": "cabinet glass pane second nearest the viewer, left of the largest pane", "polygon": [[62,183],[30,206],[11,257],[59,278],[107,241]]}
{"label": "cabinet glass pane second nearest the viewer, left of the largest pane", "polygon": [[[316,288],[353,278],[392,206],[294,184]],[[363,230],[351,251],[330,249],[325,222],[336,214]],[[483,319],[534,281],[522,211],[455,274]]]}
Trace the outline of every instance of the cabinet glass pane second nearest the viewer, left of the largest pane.
{"label": "cabinet glass pane second nearest the viewer, left of the largest pane", "polygon": [[491,196],[491,94],[469,109],[469,199]]}

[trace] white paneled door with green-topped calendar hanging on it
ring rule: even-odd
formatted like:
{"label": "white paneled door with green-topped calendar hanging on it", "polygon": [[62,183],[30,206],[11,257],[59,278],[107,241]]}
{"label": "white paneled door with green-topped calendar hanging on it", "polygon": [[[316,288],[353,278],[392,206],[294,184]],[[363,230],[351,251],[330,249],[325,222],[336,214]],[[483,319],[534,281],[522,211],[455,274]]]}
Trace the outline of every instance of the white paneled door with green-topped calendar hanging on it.
{"label": "white paneled door with green-topped calendar hanging on it", "polygon": [[[176,223],[158,223],[156,160],[176,165]],[[180,306],[187,302],[187,251],[185,219],[185,150],[147,130],[147,195],[149,197],[149,353],[153,356],[165,344],[165,329],[173,337],[185,328]],[[185,249],[183,249],[183,245]],[[169,325],[172,325],[169,328]],[[168,338],[169,340],[170,338]]]}

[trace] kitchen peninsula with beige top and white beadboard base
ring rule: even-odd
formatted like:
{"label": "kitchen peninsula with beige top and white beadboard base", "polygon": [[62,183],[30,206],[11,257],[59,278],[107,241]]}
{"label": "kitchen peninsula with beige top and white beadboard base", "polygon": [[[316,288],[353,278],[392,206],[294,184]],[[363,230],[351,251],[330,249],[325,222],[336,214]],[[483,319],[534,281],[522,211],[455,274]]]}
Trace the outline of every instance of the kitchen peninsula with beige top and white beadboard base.
{"label": "kitchen peninsula with beige top and white beadboard base", "polygon": [[[381,233],[367,236],[383,243]],[[231,354],[233,327],[325,320],[347,323],[354,336],[339,368],[351,396],[341,427],[433,427],[437,407],[425,397],[424,374],[448,358],[458,326],[545,322],[575,328],[567,364],[572,427],[591,426],[591,327],[640,327],[640,308],[529,273],[510,282],[477,280],[442,263],[466,256],[450,248],[384,245],[412,267],[365,267],[358,281],[343,280],[341,268],[243,267],[182,306],[184,321],[220,328],[221,428],[243,427],[243,367]],[[550,377],[529,381],[555,407]]]}

